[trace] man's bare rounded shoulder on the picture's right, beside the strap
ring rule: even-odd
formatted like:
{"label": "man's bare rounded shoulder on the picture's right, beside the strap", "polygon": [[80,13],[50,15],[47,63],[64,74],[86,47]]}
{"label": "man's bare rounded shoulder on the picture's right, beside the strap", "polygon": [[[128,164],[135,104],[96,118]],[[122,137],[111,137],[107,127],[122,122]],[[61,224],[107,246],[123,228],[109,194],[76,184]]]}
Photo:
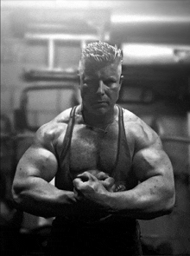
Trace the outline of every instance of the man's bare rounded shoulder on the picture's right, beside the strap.
{"label": "man's bare rounded shoulder on the picture's right, beside the strap", "polygon": [[136,150],[142,148],[161,149],[161,139],[155,131],[149,127],[141,118],[123,108],[123,123],[125,132],[130,141],[133,141]]}

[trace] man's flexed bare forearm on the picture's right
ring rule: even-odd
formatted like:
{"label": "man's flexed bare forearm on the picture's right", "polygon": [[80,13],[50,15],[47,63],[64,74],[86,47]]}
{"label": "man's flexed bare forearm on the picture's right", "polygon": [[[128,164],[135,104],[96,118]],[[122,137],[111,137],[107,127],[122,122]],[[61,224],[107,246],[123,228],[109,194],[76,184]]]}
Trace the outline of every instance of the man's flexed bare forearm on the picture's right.
{"label": "man's flexed bare forearm on the picture's right", "polygon": [[174,190],[156,177],[138,184],[131,190],[106,194],[110,213],[149,220],[170,213],[174,207]]}

